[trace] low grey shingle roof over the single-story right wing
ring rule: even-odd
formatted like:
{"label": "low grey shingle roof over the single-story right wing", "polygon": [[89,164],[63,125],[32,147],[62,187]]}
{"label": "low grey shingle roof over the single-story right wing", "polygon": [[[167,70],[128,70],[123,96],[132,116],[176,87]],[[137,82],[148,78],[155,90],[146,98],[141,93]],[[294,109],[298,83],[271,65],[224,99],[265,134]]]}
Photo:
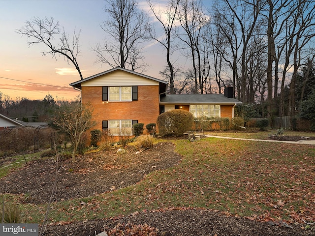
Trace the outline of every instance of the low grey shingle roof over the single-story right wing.
{"label": "low grey shingle roof over the single-story right wing", "polygon": [[235,98],[225,97],[223,94],[167,94],[161,97],[160,103],[163,104],[241,104]]}

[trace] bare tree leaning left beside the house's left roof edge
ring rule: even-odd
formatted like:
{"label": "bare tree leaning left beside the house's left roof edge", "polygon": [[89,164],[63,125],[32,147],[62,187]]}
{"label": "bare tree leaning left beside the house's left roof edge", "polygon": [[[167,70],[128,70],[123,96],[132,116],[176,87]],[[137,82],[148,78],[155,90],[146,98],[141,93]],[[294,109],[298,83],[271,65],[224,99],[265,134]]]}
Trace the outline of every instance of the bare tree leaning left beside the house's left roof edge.
{"label": "bare tree leaning left beside the house's left roof edge", "polygon": [[[31,21],[27,21],[25,26],[17,30],[18,33],[28,37],[28,45],[44,44],[48,51],[43,51],[43,56],[50,54],[57,59],[56,55],[63,56],[67,62],[71,62],[78,71],[81,80],[83,79],[80,67],[77,61],[79,51],[80,32],[74,30],[72,39],[61,29],[59,22],[54,18],[40,19],[34,17]],[[55,37],[59,37],[59,41]]]}

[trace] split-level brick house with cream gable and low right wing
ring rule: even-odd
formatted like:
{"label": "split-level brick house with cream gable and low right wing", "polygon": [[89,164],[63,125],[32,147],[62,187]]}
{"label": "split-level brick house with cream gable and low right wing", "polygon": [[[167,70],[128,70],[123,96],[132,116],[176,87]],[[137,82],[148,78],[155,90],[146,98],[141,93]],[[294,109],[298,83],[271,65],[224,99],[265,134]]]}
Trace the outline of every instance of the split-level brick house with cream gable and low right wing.
{"label": "split-level brick house with cream gable and low right wing", "polygon": [[[174,94],[168,83],[121,67],[71,83],[81,90],[83,105],[92,106],[95,129],[108,129],[111,135],[132,134],[135,123],[156,123],[158,115],[183,109],[195,117],[234,117],[234,107],[242,102],[233,98],[232,88],[223,94]],[[121,133],[123,131],[123,133]]]}

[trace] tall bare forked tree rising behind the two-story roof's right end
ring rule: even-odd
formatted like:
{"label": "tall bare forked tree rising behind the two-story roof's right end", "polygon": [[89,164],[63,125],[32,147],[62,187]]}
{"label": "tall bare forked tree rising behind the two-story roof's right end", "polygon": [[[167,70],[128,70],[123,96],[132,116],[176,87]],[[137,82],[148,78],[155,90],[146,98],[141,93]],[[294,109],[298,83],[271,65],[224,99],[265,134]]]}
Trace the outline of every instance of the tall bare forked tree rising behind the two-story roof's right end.
{"label": "tall bare forked tree rising behind the two-story roof's right end", "polygon": [[[173,30],[175,28],[175,19],[176,14],[178,11],[178,4],[180,0],[170,0],[170,2],[167,5],[167,10],[165,12],[161,12],[160,10],[157,10],[155,6],[153,5],[151,0],[147,0],[149,3],[149,6],[155,15],[158,22],[161,24],[161,27],[163,29],[163,36],[159,37],[156,34],[156,31],[154,29],[150,29],[150,36],[152,39],[157,41],[160,45],[162,45],[166,49],[166,62],[167,66],[169,68],[170,76],[169,76],[169,87],[170,87],[170,94],[175,94],[175,86],[174,86],[174,66],[171,62],[171,55],[172,55],[172,35]],[[163,21],[163,15],[166,16],[166,22]]]}

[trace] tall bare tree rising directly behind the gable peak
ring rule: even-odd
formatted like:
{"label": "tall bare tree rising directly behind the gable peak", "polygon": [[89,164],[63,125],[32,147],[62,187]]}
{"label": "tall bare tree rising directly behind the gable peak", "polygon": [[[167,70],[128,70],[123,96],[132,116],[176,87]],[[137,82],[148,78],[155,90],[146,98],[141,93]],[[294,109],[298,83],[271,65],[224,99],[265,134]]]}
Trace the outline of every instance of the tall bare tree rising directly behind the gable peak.
{"label": "tall bare tree rising directly behind the gable peak", "polygon": [[97,44],[94,51],[96,62],[115,68],[145,70],[147,64],[142,56],[140,43],[146,38],[149,20],[138,9],[136,0],[106,0],[105,13],[108,20],[101,28],[107,33],[103,44]]}

